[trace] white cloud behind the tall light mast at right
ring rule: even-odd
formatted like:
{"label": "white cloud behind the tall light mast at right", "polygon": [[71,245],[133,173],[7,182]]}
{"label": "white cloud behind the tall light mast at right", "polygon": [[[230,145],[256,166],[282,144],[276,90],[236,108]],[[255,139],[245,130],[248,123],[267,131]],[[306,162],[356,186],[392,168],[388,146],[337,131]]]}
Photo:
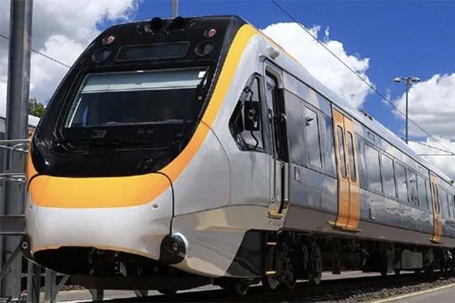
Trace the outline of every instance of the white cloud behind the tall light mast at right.
{"label": "white cloud behind the tall light mast at right", "polygon": [[[403,113],[405,96],[395,101]],[[430,134],[455,139],[455,73],[435,74],[414,84],[409,91],[409,117]],[[409,130],[411,135],[422,135],[412,123]]]}

